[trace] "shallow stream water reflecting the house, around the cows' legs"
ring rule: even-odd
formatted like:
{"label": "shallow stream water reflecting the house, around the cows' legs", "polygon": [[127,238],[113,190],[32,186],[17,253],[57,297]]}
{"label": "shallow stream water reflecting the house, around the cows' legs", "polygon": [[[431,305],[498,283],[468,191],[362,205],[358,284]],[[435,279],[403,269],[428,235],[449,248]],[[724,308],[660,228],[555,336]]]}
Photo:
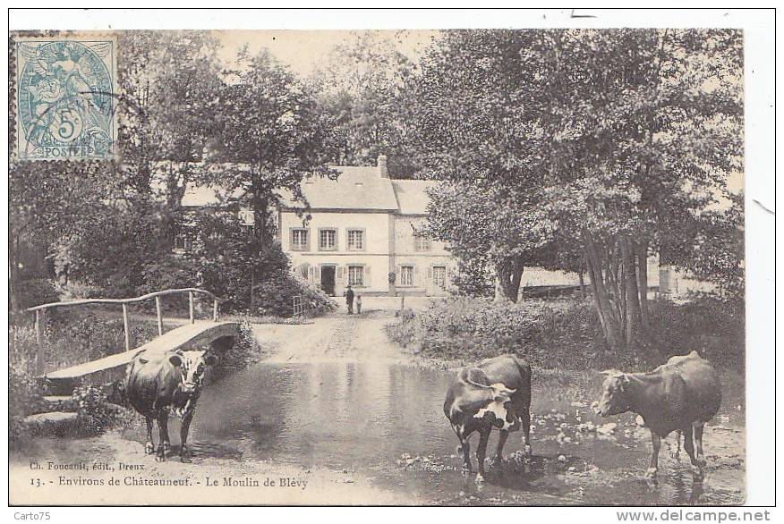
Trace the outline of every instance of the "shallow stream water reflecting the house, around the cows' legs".
{"label": "shallow stream water reflecting the house, around the cows' legs", "polygon": [[[192,426],[194,458],[203,453],[354,470],[434,503],[737,501],[737,489],[710,489],[706,497],[707,488],[694,482],[686,462],[668,461],[658,486],[647,485],[641,476],[649,438],[630,415],[617,419],[612,438],[573,433],[570,442],[558,440],[565,424],[574,429],[578,416],[592,416],[563,400],[574,399],[575,392],[555,380],[534,386],[531,462],[477,488],[460,475],[456,438],[442,412],[451,379],[447,372],[384,361],[262,364],[202,393]],[[472,444],[475,449],[475,437]],[[706,449],[711,445],[706,441]],[[505,453],[522,447],[513,434]],[[403,469],[397,463],[402,455],[432,457],[440,469]],[[566,461],[558,461],[559,455]]]}

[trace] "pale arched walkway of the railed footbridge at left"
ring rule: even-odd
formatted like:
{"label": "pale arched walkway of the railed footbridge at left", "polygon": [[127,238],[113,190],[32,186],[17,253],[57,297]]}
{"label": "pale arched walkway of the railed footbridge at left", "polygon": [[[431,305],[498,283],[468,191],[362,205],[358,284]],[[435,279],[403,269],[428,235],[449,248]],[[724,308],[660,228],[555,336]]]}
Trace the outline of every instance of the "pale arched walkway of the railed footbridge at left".
{"label": "pale arched walkway of the railed footbridge at left", "polygon": [[236,336],[239,333],[239,324],[236,322],[200,321],[177,327],[134,350],[109,355],[103,359],[85,362],[70,368],[59,369],[47,373],[46,377],[53,381],[70,382],[85,376],[103,376],[105,373],[111,374],[117,368],[124,368],[131,361],[133,355],[142,350],[155,352],[187,350],[207,345],[220,337]]}

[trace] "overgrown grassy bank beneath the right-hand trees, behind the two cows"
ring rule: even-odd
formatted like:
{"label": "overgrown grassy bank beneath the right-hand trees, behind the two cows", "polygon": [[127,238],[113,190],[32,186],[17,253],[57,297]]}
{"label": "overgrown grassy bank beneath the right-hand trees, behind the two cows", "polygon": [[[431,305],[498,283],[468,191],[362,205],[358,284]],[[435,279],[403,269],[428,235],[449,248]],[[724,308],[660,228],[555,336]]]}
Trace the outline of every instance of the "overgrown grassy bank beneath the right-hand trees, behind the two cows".
{"label": "overgrown grassy bank beneath the right-hand trees, behind the two cows", "polygon": [[404,311],[388,334],[415,355],[457,362],[511,352],[540,369],[641,370],[696,350],[718,368],[743,370],[742,309],[712,299],[683,305],[655,300],[651,320],[648,344],[615,353],[608,351],[590,301],[461,297]]}

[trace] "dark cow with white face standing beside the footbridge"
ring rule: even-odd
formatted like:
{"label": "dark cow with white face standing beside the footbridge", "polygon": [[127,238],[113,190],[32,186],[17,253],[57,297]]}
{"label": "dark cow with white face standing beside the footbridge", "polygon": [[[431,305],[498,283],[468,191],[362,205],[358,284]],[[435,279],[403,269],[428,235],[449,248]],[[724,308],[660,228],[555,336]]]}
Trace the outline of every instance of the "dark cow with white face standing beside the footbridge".
{"label": "dark cow with white face standing beside the footbridge", "polygon": [[160,442],[156,461],[166,461],[170,449],[169,414],[182,418],[180,429],[180,460],[190,462],[185,443],[196,411],[204,373],[214,366],[217,357],[207,351],[140,352],[125,371],[124,395],[133,409],[147,419],[147,443],[144,451],[155,451],[152,442],[153,420],[158,420]]}

